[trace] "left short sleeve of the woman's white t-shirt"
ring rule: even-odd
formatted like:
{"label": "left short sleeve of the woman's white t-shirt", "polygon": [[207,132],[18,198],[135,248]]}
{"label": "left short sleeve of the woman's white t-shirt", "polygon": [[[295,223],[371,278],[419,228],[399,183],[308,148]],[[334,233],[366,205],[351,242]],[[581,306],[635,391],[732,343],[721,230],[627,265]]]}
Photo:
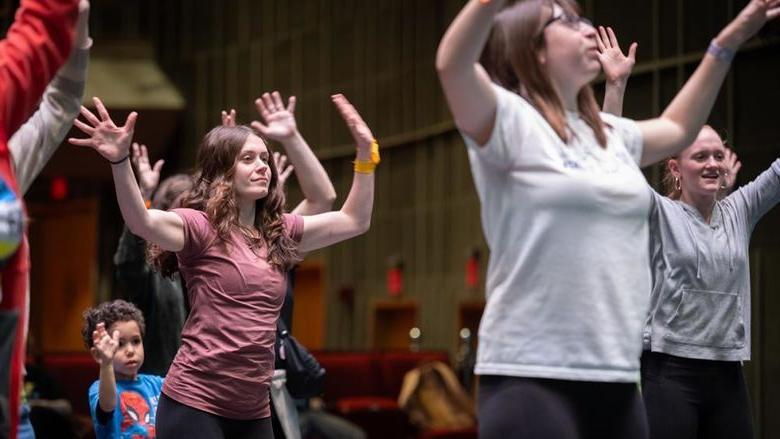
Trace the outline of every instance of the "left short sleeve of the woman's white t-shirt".
{"label": "left short sleeve of the woman's white t-shirt", "polygon": [[518,94],[493,84],[496,94],[496,118],[490,139],[478,144],[461,132],[466,146],[480,160],[500,169],[509,169],[518,162],[518,152],[526,127],[534,123],[531,115],[536,110]]}

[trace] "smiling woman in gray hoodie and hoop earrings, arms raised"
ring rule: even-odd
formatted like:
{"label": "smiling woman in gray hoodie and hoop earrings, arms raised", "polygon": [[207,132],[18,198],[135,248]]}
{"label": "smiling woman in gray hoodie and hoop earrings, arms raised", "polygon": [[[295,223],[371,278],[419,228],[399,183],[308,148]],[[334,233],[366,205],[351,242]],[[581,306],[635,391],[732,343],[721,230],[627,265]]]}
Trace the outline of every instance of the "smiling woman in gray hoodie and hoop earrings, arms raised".
{"label": "smiling woman in gray hoodie and hoop earrings, arms raised", "polygon": [[[599,32],[602,63],[628,62]],[[604,68],[608,71],[608,66]],[[622,83],[630,74],[626,72]],[[607,81],[604,111],[620,114],[624,88]],[[668,159],[667,195],[652,192],[652,293],[643,334],[642,393],[650,437],[751,438],[742,361],[750,360],[748,245],[780,201],[780,159],[728,196],[740,164],[704,126]]]}

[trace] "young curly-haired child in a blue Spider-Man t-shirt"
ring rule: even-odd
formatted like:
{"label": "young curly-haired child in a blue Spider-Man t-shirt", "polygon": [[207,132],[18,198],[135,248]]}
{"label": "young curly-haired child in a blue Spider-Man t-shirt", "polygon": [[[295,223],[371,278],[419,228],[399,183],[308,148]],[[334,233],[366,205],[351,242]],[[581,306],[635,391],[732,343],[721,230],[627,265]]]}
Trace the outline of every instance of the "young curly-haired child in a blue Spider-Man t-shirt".
{"label": "young curly-haired child in a blue Spider-Man t-shirt", "polygon": [[100,364],[89,388],[95,435],[102,438],[154,438],[163,378],[139,374],[144,362],[144,317],[135,305],[114,300],[84,312],[81,335]]}

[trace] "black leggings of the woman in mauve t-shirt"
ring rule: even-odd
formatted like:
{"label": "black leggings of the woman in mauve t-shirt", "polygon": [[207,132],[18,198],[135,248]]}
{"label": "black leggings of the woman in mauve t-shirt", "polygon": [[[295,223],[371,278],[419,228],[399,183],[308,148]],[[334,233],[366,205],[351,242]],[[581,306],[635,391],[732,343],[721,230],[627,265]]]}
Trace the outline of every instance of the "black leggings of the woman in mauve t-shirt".
{"label": "black leggings of the woman in mauve t-shirt", "polygon": [[194,409],[160,394],[157,439],[273,439],[271,418],[239,420]]}

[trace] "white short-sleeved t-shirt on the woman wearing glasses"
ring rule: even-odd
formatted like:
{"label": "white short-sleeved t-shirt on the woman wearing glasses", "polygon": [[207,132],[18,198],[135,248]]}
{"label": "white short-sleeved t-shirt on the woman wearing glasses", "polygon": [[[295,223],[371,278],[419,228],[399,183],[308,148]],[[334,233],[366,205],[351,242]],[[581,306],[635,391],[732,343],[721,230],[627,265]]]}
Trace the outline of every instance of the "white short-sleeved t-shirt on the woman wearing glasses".
{"label": "white short-sleeved t-shirt on the woman wearing glasses", "polygon": [[490,140],[464,136],[490,248],[476,373],[635,382],[651,286],[641,132],[602,114],[602,148],[570,112],[565,144],[494,89]]}

